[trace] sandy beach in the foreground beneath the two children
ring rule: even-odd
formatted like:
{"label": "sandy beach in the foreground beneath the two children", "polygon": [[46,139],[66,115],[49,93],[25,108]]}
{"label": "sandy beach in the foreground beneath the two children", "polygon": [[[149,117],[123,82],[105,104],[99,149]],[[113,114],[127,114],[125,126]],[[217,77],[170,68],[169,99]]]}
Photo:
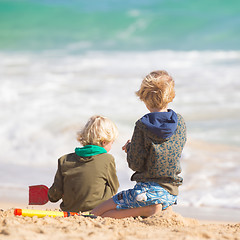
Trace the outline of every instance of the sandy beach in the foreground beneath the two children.
{"label": "sandy beach in the foreground beneath the two children", "polygon": [[[194,213],[193,209],[191,212],[196,218],[184,217],[189,215],[187,209],[182,209],[183,214],[180,214],[179,209],[174,208],[149,218],[117,220],[81,216],[67,218],[14,216],[14,208],[10,205],[1,204],[3,209],[0,210],[0,239],[240,239],[240,221],[237,221],[237,218],[224,221],[227,220],[224,215],[222,218],[215,215],[213,220],[211,216],[207,217],[206,211],[205,215],[203,211],[200,216],[197,211]],[[28,208],[49,209],[46,206]],[[235,215],[238,213],[239,211],[236,211]],[[205,220],[202,220],[204,216]]]}

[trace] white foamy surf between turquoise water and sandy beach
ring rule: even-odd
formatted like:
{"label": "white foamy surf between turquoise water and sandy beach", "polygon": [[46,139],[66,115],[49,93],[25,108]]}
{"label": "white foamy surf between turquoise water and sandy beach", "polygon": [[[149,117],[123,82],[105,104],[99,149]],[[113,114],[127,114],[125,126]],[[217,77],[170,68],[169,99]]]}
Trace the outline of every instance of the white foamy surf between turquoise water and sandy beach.
{"label": "white foamy surf between turquoise water and sandy beach", "polygon": [[[176,98],[170,107],[187,121],[190,141],[239,146],[239,62],[240,52],[233,51],[0,53],[0,162],[33,171],[51,166],[51,176],[43,174],[50,184],[57,158],[78,144],[76,131],[91,115],[102,114],[120,131],[112,150],[120,189],[133,186],[121,147],[146,113],[134,92],[156,69],[175,79]],[[238,207],[239,151],[208,151],[206,145],[184,150],[179,204]],[[31,182],[32,175],[27,176],[21,186]],[[34,182],[44,179],[36,174]],[[9,181],[3,174],[0,180]]]}

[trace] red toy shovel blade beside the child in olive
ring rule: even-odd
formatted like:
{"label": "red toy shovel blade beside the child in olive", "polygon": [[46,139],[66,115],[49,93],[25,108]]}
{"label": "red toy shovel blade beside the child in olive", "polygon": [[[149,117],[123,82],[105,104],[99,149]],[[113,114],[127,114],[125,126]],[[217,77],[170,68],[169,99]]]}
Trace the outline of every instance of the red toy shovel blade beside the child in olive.
{"label": "red toy shovel blade beside the child in olive", "polygon": [[45,185],[29,186],[29,205],[44,205],[48,202],[48,187]]}

